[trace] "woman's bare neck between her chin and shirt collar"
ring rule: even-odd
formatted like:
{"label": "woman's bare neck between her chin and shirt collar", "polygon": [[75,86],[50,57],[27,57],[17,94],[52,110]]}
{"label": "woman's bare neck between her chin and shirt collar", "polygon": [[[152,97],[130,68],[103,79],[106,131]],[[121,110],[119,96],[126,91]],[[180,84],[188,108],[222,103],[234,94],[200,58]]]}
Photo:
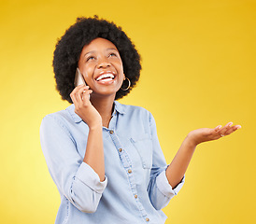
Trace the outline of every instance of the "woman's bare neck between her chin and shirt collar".
{"label": "woman's bare neck between her chin and shirt collar", "polygon": [[113,104],[115,100],[115,95],[112,97],[93,97],[91,96],[91,103],[95,107],[95,109],[99,112],[102,118],[102,125],[104,127],[108,127],[110,122],[112,112],[113,112]]}

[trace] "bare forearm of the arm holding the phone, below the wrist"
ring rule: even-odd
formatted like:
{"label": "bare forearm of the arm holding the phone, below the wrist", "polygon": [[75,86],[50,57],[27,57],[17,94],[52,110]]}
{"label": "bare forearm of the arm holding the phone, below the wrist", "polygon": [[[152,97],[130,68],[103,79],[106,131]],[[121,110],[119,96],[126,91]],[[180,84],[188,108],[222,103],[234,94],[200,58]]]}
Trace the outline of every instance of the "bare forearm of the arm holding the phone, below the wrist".
{"label": "bare forearm of the arm holding the phone, below the wrist", "polygon": [[102,125],[90,129],[83,161],[90,165],[94,172],[99,175],[100,181],[104,181],[105,163]]}

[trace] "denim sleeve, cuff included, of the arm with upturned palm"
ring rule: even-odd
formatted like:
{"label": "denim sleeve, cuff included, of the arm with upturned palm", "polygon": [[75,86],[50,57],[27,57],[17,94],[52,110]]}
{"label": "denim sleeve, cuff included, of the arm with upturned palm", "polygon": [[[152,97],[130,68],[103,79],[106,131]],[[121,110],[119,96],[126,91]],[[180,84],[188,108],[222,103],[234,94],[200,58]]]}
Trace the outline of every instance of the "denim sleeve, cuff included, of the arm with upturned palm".
{"label": "denim sleeve, cuff included, of the arm with upturned palm", "polygon": [[164,208],[175,195],[178,194],[178,191],[184,184],[185,176],[183,176],[178,186],[175,189],[172,189],[172,186],[169,184],[165,175],[167,165],[164,159],[164,153],[159,144],[155,120],[151,114],[149,115],[149,122],[153,147],[153,161],[150,172],[148,192],[150,202],[153,204],[155,209],[160,210]]}

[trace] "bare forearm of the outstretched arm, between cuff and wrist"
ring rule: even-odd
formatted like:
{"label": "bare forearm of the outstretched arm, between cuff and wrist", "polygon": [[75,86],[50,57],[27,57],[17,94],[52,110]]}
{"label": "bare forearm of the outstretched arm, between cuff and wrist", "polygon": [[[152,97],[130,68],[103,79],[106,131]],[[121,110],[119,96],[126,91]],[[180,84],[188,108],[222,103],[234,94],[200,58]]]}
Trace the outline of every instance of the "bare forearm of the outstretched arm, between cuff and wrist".
{"label": "bare forearm of the outstretched arm, between cuff and wrist", "polygon": [[178,185],[182,177],[185,175],[190,161],[192,160],[195,147],[196,145],[193,144],[190,138],[187,136],[179,147],[175,158],[166,169],[168,182],[173,189]]}

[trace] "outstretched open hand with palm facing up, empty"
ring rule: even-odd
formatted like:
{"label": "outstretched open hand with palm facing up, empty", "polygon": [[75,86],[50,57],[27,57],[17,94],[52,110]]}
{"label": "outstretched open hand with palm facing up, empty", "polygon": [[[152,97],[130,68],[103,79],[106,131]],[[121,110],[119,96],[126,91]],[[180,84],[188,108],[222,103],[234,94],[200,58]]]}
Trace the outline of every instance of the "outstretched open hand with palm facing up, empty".
{"label": "outstretched open hand with palm facing up, empty", "polygon": [[217,140],[220,137],[229,135],[234,133],[237,129],[240,129],[240,125],[233,125],[233,122],[228,122],[224,127],[218,125],[216,128],[209,129],[209,128],[201,128],[196,129],[188,134],[187,138],[189,138],[194,144],[197,146],[200,143]]}

